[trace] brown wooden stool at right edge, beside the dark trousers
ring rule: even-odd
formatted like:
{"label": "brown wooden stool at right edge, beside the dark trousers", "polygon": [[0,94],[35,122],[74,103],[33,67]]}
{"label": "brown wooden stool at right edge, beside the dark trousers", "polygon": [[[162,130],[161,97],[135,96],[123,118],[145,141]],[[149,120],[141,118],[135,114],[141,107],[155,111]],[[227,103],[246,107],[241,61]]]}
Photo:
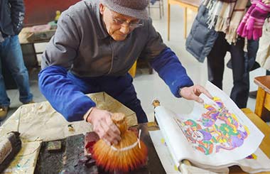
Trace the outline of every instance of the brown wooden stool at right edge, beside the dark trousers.
{"label": "brown wooden stool at right edge, beside the dark trousers", "polygon": [[267,119],[266,116],[270,116],[270,75],[255,77],[254,82],[258,85],[255,114]]}

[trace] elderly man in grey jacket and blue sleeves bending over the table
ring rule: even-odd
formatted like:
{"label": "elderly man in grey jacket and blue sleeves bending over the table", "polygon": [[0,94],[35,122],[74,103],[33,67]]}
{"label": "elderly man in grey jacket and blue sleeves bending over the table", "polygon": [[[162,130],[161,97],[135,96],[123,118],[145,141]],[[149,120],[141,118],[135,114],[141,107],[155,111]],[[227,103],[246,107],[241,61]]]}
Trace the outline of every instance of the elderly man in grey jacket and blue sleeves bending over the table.
{"label": "elderly man in grey jacket and blue sleeves bending over the table", "polygon": [[50,104],[68,121],[85,119],[109,143],[119,141],[111,113],[98,109],[86,93],[107,92],[147,122],[129,68],[147,58],[175,97],[202,102],[177,56],[148,18],[147,0],[85,0],[64,11],[43,54],[39,85]]}

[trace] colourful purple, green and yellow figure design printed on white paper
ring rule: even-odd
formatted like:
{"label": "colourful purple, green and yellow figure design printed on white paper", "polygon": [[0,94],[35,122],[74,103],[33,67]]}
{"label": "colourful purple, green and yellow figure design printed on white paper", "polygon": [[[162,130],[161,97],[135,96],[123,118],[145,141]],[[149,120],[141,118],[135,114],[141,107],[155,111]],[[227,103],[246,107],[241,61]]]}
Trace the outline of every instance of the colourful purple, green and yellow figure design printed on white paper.
{"label": "colourful purple, green and yellow figure design printed on white paper", "polygon": [[215,104],[204,104],[207,112],[200,119],[176,119],[188,141],[205,155],[242,146],[249,136],[247,126],[240,124],[235,114],[229,113],[221,99],[214,97],[213,100]]}

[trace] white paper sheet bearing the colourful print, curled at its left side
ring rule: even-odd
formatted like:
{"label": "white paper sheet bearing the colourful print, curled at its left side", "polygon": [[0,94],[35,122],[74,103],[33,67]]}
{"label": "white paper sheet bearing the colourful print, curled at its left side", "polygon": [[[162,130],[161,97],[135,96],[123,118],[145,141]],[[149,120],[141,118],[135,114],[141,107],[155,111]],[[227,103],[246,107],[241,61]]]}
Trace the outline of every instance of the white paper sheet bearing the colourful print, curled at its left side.
{"label": "white paper sheet bearing the colourful print, curled at its left side", "polygon": [[[254,153],[264,134],[224,92],[210,82],[207,82],[205,87],[215,97],[214,102],[201,96],[205,100],[205,104],[210,106],[206,107],[208,110],[205,109],[207,105],[195,103],[193,112],[177,115],[161,106],[155,109],[156,120],[168,142],[168,148],[175,163],[188,159],[202,168],[205,168],[206,165],[209,168],[224,168]],[[221,106],[222,103],[225,107]],[[222,110],[219,110],[220,108]],[[209,109],[216,109],[216,112],[215,110],[210,112]],[[227,112],[224,112],[225,109]],[[217,113],[218,116],[212,118],[213,115],[209,113]],[[205,114],[203,119],[202,114]],[[191,120],[188,121],[188,119]],[[209,126],[210,121],[214,123],[212,127]],[[227,138],[223,134],[220,135],[220,132],[227,135]]]}

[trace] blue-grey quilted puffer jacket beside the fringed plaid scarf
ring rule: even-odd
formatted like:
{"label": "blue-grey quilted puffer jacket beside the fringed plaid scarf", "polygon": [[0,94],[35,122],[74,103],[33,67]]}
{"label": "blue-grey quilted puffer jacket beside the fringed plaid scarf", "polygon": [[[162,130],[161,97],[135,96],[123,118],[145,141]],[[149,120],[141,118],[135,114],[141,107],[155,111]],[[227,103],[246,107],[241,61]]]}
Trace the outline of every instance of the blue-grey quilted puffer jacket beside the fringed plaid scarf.
{"label": "blue-grey quilted puffer jacket beside the fringed plaid scarf", "polygon": [[190,34],[185,42],[188,50],[199,62],[203,62],[212,50],[218,33],[214,29],[207,28],[208,10],[200,5],[198,14],[193,22]]}

